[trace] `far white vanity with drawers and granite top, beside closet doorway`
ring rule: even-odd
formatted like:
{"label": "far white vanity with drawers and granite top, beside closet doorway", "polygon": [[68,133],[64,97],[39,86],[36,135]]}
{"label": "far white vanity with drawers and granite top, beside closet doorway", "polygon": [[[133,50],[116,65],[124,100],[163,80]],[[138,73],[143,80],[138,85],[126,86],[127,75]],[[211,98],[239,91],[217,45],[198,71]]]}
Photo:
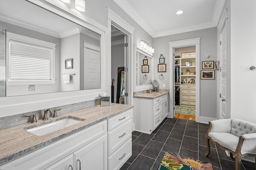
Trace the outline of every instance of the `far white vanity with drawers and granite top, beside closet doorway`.
{"label": "far white vanity with drawers and granite top, beside closet doorway", "polygon": [[134,130],[151,134],[168,115],[168,91],[134,94]]}

